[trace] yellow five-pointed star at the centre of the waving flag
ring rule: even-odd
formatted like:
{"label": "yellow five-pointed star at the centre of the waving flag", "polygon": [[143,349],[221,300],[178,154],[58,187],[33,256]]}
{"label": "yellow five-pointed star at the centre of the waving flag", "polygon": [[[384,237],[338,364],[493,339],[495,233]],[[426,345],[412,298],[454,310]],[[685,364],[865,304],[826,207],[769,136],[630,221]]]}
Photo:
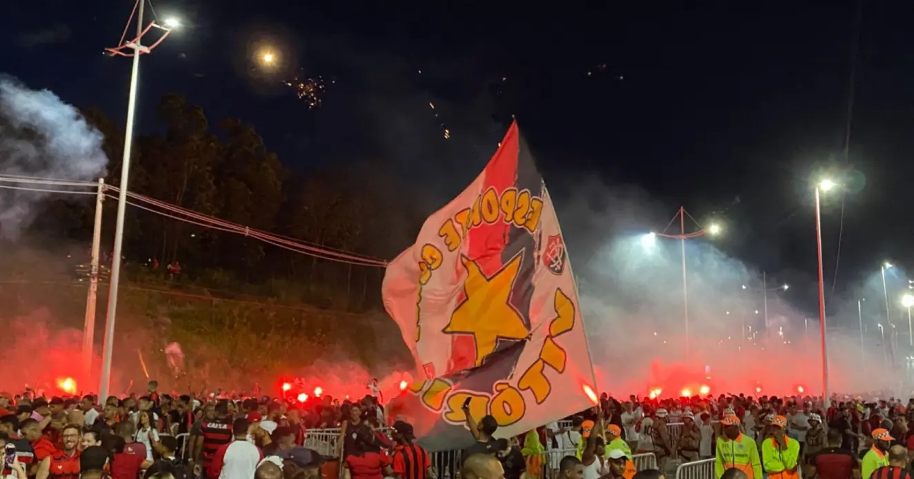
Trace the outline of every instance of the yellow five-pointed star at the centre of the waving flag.
{"label": "yellow five-pointed star at the centre of the waving flag", "polygon": [[499,339],[523,340],[530,331],[524,319],[510,303],[511,291],[522,255],[515,255],[492,277],[485,276],[475,261],[461,257],[466,268],[463,281],[464,299],[451,314],[451,322],[443,332],[472,334],[476,342],[476,366],[492,354]]}

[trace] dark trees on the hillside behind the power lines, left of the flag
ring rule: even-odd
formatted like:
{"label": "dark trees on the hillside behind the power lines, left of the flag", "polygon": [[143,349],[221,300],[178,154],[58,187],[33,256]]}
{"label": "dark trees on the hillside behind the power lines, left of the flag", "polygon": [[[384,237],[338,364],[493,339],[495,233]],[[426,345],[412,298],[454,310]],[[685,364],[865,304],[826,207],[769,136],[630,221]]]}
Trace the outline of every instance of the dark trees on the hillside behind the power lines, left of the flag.
{"label": "dark trees on the hillside behind the power lines, left of the flag", "polygon": [[[106,182],[118,185],[123,131],[98,109],[83,111],[105,137]],[[184,97],[168,94],[156,107],[164,134],[133,142],[130,190],[154,199],[296,240],[390,259],[415,238],[423,218],[376,162],[350,162],[319,172],[291,172],[254,126],[237,119],[215,126]],[[112,247],[116,201],[106,201],[102,247]],[[94,202],[54,197],[30,234],[89,245]],[[181,281],[201,286],[282,284],[276,294],[321,307],[365,310],[380,304],[383,269],[293,253],[239,234],[128,209],[124,256],[179,261]]]}

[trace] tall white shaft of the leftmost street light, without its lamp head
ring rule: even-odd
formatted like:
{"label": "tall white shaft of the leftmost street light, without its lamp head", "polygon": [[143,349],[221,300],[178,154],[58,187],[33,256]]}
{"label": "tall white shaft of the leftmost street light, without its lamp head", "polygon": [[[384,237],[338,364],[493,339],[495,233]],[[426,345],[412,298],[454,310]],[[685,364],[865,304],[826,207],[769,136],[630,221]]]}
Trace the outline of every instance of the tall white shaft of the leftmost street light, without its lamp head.
{"label": "tall white shaft of the leftmost street light, without its lamp head", "polygon": [[111,385],[112,349],[114,346],[114,321],[117,318],[117,293],[121,281],[121,251],[123,245],[123,216],[127,206],[127,187],[130,181],[130,157],[133,147],[133,116],[136,111],[136,82],[140,74],[141,37],[143,36],[143,5],[138,2],[136,39],[133,45],[133,68],[130,73],[130,94],[127,99],[127,125],[123,132],[123,161],[121,164],[120,193],[117,199],[117,220],[114,226],[114,252],[111,285],[108,289],[108,317],[105,324],[105,343],[101,356],[101,385],[99,397],[107,398]]}

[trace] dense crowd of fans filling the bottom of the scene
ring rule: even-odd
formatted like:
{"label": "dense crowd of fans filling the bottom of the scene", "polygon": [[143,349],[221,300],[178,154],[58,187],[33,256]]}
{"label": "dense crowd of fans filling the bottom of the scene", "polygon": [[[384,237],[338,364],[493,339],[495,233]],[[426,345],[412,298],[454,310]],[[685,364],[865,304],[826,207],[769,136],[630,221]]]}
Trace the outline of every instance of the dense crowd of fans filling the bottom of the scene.
{"label": "dense crowd of fans filling the bottom of the scene", "polygon": [[[832,398],[826,408],[811,396],[604,394],[566,422],[500,439],[492,416],[466,417],[473,444],[435,470],[412,425],[388,429],[372,394],[195,397],[151,381],[142,396],[104,402],[0,393],[0,446],[16,479],[656,479],[671,463],[712,458],[715,479],[903,479],[914,457],[914,399]],[[338,449],[305,447],[309,430],[333,428]],[[638,453],[653,453],[657,470],[636,470]]]}

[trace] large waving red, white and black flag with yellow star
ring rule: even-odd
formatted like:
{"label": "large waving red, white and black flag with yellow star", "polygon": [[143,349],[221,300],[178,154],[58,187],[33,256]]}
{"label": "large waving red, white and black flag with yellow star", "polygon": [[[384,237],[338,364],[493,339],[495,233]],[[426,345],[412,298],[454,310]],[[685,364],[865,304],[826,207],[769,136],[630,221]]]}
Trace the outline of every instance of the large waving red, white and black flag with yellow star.
{"label": "large waving red, white and black flag with yellow star", "polygon": [[468,188],[388,266],[384,305],[418,377],[388,406],[431,451],[472,443],[462,405],[496,436],[596,403],[558,218],[516,123]]}

